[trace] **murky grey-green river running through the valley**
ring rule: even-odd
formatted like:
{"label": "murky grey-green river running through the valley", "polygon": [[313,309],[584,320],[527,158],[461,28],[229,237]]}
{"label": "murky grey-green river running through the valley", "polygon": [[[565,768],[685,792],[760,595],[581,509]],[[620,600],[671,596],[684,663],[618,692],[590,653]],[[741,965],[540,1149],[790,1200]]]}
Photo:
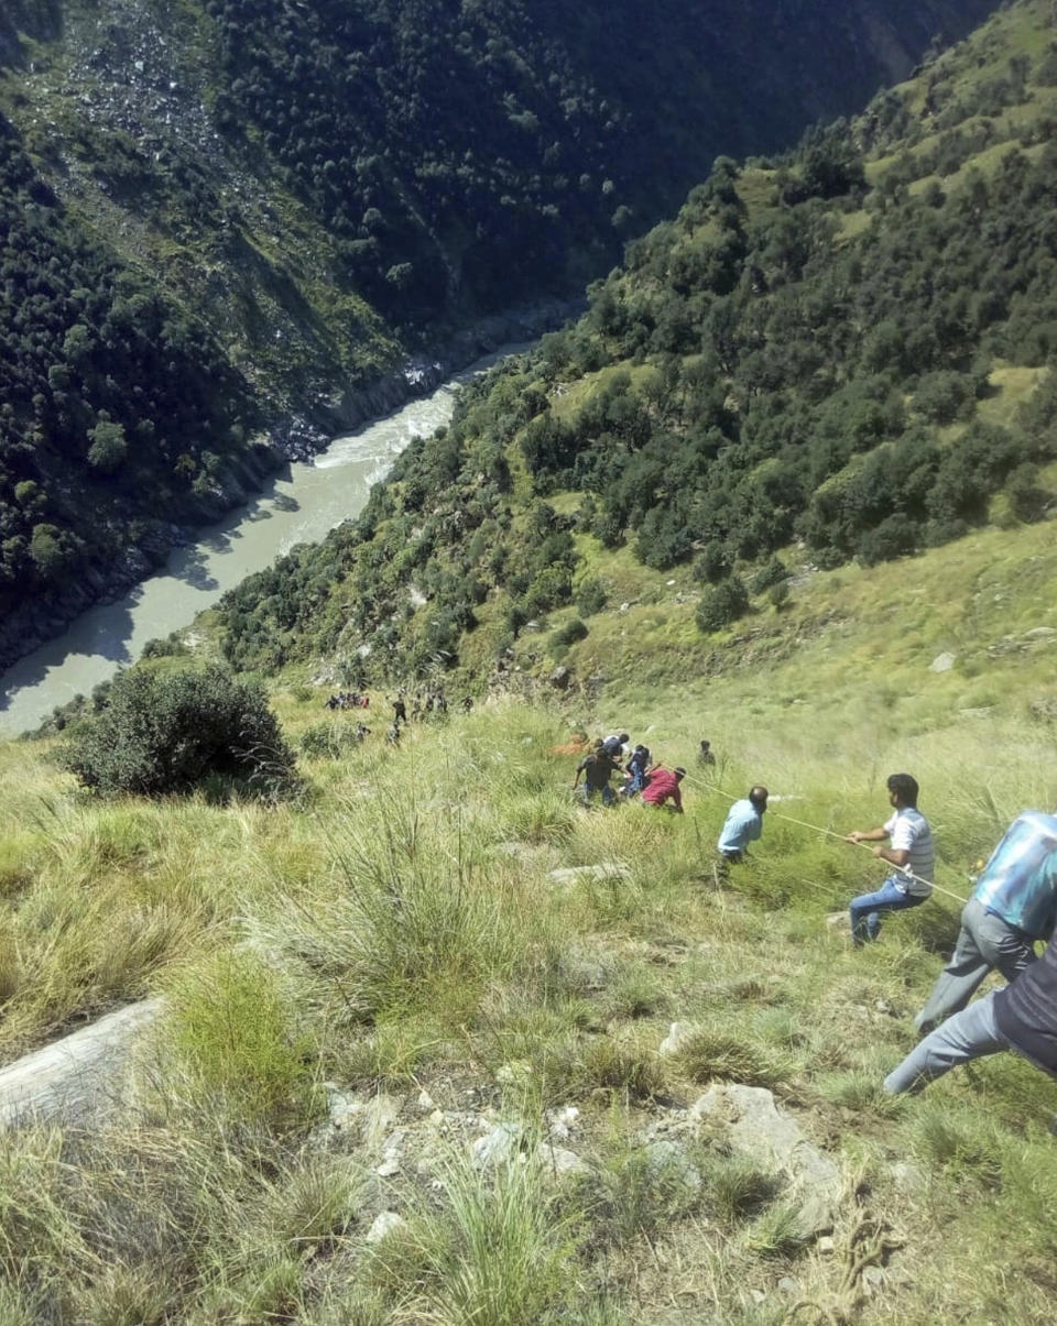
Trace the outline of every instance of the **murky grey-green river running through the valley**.
{"label": "murky grey-green river running through the valley", "polygon": [[290,465],[248,505],[203,529],[196,544],[176,549],[164,570],[117,602],[82,613],[3,675],[0,735],[37,727],[56,705],[88,695],[135,662],[147,640],[188,626],[247,575],[355,516],[407,443],[451,419],[459,386],[520,349],[505,346],[431,395],[336,438],[314,461]]}

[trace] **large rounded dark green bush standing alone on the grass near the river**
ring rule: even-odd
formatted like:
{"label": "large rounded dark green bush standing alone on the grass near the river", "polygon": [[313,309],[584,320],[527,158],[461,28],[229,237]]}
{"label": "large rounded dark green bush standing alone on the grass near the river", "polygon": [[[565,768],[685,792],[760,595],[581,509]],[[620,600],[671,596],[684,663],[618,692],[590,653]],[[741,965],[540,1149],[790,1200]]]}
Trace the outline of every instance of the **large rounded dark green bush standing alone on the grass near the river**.
{"label": "large rounded dark green bush standing alone on the grass near the river", "polygon": [[293,753],[264,691],[223,667],[118,676],[62,762],[103,794],[183,792],[212,774],[261,789],[289,777]]}

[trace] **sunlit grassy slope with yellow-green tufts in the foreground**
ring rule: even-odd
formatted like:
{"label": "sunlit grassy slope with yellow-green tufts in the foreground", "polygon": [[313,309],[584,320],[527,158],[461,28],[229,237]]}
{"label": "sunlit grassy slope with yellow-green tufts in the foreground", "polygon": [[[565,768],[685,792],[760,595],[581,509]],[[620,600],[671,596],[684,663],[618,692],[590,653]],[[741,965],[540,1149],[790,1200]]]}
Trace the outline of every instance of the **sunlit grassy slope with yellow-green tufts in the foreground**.
{"label": "sunlit grassy slope with yellow-green tufts in the foreground", "polygon": [[[375,693],[367,741],[302,754],[292,804],[95,804],[46,743],[3,748],[4,1057],[168,1000],[126,1115],[0,1140],[5,1319],[1045,1319],[1053,1083],[999,1057],[919,1099],[879,1090],[975,863],[1053,802],[1045,534],[816,572],[714,640],[629,560],[629,607],[576,646],[609,678],[597,707],[533,703],[508,672],[393,749]],[[324,695],[297,670],[276,684],[294,745],[354,721]],[[553,748],[615,727],[690,766],[683,818],[573,804]],[[825,918],[878,863],[822,830],[881,819],[897,768],[944,892],[850,951]],[[712,843],[757,780],[764,839],[724,880]],[[549,874],[599,863],[626,870]],[[672,1021],[695,1032],[664,1055]],[[832,1241],[798,1238],[760,1160],[691,1126],[717,1081],[772,1089],[837,1163]],[[471,1143],[500,1123],[528,1159],[479,1172]],[[533,1160],[548,1135],[584,1168]],[[382,1211],[406,1224],[367,1241]]]}

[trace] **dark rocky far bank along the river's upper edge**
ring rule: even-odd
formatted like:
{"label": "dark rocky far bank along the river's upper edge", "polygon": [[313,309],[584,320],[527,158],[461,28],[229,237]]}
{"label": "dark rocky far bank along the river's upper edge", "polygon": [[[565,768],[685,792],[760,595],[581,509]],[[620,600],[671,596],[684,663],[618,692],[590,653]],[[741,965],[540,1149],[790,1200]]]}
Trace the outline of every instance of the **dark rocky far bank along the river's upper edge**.
{"label": "dark rocky far bank along the river's upper edge", "polygon": [[[343,434],[365,427],[431,391],[500,346],[534,339],[561,326],[576,302],[548,301],[515,309],[446,335],[436,349],[424,349],[366,387],[336,391],[302,414],[276,419],[237,464],[229,464],[199,503],[195,521],[150,521],[137,542],[109,566],[89,565],[64,593],[49,602],[25,602],[0,622],[0,670],[54,640],[92,607],[113,603],[159,572],[175,549],[190,545],[199,532],[259,496],[284,465],[310,461]],[[7,686],[7,678],[4,678]]]}

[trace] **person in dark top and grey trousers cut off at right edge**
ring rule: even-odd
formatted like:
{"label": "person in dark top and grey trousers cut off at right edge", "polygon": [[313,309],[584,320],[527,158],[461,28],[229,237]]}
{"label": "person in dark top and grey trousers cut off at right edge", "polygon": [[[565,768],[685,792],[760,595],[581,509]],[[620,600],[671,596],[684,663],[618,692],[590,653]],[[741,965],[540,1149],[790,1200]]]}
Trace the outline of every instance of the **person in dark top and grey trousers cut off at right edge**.
{"label": "person in dark top and grey trousers cut off at right edge", "polygon": [[889,1095],[920,1091],[959,1063],[1013,1050],[1057,1077],[1057,940],[1012,985],[948,1017],[885,1078]]}

